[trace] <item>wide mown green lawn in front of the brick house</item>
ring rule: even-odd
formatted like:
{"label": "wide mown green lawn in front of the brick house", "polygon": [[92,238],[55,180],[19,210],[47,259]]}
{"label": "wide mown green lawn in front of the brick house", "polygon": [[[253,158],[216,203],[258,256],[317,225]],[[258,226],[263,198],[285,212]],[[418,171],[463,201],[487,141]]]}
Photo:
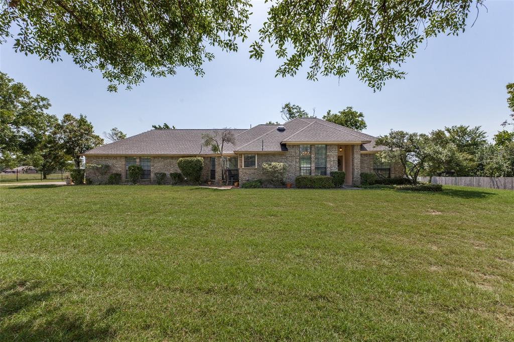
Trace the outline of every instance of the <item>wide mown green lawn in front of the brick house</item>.
{"label": "wide mown green lawn in front of the brick house", "polygon": [[0,187],[0,340],[512,340],[514,192]]}

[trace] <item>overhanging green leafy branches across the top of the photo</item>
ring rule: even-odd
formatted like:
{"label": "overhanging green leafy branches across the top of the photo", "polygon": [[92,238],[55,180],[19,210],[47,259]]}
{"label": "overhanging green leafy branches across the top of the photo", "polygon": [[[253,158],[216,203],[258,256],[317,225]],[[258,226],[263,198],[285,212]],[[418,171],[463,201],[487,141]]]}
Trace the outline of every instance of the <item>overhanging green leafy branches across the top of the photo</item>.
{"label": "overhanging green leafy branches across the top of the photo", "polygon": [[[344,77],[353,67],[374,89],[392,78],[416,48],[439,33],[464,31],[485,0],[276,0],[251,44],[261,60],[271,44],[284,62],[276,75]],[[87,70],[100,70],[109,90],[130,88],[145,74],[178,67],[203,75],[214,58],[207,45],[237,51],[250,30],[250,0],[4,0],[0,35],[18,25],[16,51],[56,61],[64,51]]]}

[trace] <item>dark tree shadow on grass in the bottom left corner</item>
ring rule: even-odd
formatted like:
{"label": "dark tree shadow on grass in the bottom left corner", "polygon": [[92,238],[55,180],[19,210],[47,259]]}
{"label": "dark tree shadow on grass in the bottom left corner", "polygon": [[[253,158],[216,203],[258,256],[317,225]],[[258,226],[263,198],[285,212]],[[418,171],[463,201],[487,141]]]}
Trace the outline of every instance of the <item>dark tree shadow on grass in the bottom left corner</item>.
{"label": "dark tree shadow on grass in the bottom left corner", "polygon": [[59,293],[43,290],[35,281],[16,281],[0,287],[0,341],[89,341],[115,337],[115,331],[105,323],[116,312],[114,308],[105,310],[98,320],[91,320],[71,312],[58,312],[51,305],[48,309],[41,306]]}

